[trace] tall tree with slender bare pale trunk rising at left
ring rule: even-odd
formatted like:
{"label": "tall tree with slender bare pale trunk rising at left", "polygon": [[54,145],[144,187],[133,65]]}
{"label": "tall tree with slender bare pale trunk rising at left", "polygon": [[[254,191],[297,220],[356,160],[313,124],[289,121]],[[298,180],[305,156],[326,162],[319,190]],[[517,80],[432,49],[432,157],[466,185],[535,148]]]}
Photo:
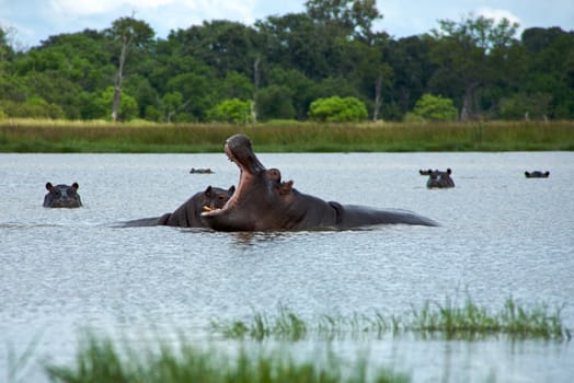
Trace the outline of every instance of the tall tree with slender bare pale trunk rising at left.
{"label": "tall tree with slender bare pale trunk rising at left", "polygon": [[117,74],[114,81],[114,102],[112,106],[112,118],[118,118],[119,96],[122,93],[122,82],[124,81],[124,66],[129,50],[134,48],[145,48],[151,43],[153,30],[144,21],[131,18],[120,18],[112,23],[112,27],[106,31],[106,35],[119,44],[120,53],[117,62]]}

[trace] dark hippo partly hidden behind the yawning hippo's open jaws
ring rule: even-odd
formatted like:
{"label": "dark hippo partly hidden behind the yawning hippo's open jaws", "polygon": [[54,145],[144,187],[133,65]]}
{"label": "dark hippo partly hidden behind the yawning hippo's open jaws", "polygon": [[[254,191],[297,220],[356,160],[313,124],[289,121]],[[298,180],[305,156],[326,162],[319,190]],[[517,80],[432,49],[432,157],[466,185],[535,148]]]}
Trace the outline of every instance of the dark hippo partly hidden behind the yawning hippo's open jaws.
{"label": "dark hippo partly hidden behind the yawning hippo's open jaws", "polygon": [[198,192],[187,199],[173,212],[167,212],[161,217],[144,218],[124,223],[125,227],[179,227],[179,228],[203,228],[199,218],[202,211],[222,208],[229,197],[236,192],[236,187],[229,189],[214,187],[211,185],[203,192]]}

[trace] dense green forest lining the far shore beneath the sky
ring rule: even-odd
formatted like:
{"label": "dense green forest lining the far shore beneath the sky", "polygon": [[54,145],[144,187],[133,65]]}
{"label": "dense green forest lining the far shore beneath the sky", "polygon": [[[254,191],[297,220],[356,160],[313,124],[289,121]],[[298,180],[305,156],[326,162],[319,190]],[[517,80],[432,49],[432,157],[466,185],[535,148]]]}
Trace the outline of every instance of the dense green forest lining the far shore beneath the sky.
{"label": "dense green forest lining the far shore beneath the sky", "polygon": [[573,31],[518,36],[506,19],[468,14],[394,38],[378,20],[374,0],[308,0],[301,13],[157,38],[131,14],[26,50],[0,25],[0,119],[308,120],[324,117],[319,100],[359,104],[360,120],[574,119]]}

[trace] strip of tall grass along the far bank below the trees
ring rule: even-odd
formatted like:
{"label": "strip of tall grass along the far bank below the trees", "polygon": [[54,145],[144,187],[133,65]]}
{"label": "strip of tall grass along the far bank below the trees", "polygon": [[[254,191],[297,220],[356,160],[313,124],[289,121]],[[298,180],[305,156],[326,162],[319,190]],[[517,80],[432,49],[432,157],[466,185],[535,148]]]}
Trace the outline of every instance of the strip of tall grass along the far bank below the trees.
{"label": "strip of tall grass along the far bank below the trees", "polygon": [[4,119],[0,152],[221,152],[237,132],[250,136],[259,152],[574,150],[574,121],[234,126]]}

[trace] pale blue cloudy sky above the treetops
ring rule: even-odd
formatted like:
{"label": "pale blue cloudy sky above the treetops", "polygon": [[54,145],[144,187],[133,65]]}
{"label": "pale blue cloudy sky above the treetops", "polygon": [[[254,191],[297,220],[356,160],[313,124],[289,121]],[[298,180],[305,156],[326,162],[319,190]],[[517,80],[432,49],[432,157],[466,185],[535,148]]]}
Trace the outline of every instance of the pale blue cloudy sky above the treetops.
{"label": "pale blue cloudy sky above the treetops", "polygon": [[[438,20],[469,14],[506,18],[524,28],[560,26],[574,31],[574,0],[377,0],[382,21],[374,30],[394,38],[438,27]],[[305,11],[305,0],[0,0],[0,26],[10,28],[16,49],[38,46],[51,35],[102,31],[123,16],[147,22],[156,37],[170,31],[229,20],[252,25],[271,15]]]}

